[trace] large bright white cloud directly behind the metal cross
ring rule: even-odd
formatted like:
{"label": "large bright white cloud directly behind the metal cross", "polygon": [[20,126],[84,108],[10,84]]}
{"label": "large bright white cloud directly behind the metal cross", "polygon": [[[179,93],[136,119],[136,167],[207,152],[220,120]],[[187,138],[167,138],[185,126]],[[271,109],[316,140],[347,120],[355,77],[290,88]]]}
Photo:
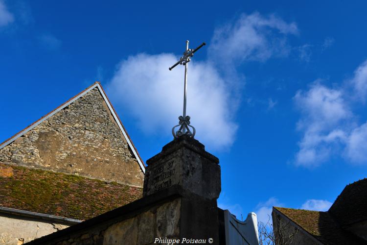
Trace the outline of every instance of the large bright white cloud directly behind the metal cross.
{"label": "large bright white cloud directly behind the metal cross", "polygon": [[[183,67],[168,70],[173,54],[138,54],[122,61],[108,90],[115,103],[126,106],[147,133],[170,133],[183,106]],[[230,146],[237,129],[229,91],[221,75],[206,62],[189,64],[187,114],[196,137],[211,147]]]}

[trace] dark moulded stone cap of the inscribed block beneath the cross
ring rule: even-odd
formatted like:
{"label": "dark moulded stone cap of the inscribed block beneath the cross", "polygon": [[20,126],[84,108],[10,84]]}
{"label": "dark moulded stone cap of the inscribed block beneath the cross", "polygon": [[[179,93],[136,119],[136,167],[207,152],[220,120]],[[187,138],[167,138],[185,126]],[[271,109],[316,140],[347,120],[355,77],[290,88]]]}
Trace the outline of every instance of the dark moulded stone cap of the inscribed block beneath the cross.
{"label": "dark moulded stone cap of the inscribed block beneath the cross", "polygon": [[168,143],[167,145],[165,145],[164,147],[162,147],[162,151],[160,153],[158,153],[157,155],[149,158],[146,161],[146,164],[154,164],[155,162],[157,162],[159,159],[165,157],[166,155],[171,154],[174,151],[177,151],[179,148],[182,147],[186,147],[198,154],[200,154],[201,156],[209,159],[210,161],[219,164],[219,159],[210,154],[209,152],[207,152],[205,150],[205,146],[203,144],[201,144],[198,140],[195,140],[193,138],[190,138],[187,135],[183,135],[180,136],[178,138],[175,138],[173,141],[171,141],[170,143]]}

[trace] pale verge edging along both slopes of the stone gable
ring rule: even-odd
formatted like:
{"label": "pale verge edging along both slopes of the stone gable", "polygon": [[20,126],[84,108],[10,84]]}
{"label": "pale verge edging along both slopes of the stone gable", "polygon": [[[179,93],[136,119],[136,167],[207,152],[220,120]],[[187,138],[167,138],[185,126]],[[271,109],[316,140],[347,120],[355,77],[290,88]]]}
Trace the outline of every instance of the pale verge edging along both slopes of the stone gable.
{"label": "pale verge edging along both slopes of the stone gable", "polygon": [[103,99],[105,100],[107,106],[109,107],[109,109],[111,111],[111,114],[114,116],[115,121],[118,124],[118,126],[119,126],[122,134],[125,136],[126,141],[129,144],[129,147],[131,148],[131,150],[133,151],[135,157],[137,158],[137,161],[138,161],[138,163],[140,165],[140,168],[141,168],[142,172],[145,173],[144,162],[141,159],[141,157],[140,157],[140,155],[138,153],[138,150],[134,146],[133,141],[131,140],[129,134],[126,132],[126,129],[125,129],[124,125],[121,123],[121,120],[118,117],[118,115],[117,115],[117,113],[115,111],[115,108],[112,106],[109,98],[107,97],[105,91],[102,88],[102,85],[99,82],[95,82],[94,84],[92,84],[91,86],[89,86],[88,88],[86,88],[85,90],[83,90],[82,92],[80,92],[79,94],[77,94],[76,96],[70,98],[68,101],[66,101],[65,103],[61,104],[59,107],[57,107],[56,109],[52,110],[51,112],[49,112],[48,114],[46,114],[45,116],[43,116],[42,118],[40,118],[39,120],[37,120],[36,122],[30,124],[29,126],[27,126],[26,128],[24,128],[23,130],[19,131],[18,133],[16,133],[15,135],[13,135],[12,137],[10,137],[9,139],[7,139],[4,142],[2,142],[0,144],[0,149],[3,148],[3,147],[5,147],[5,146],[7,146],[7,145],[9,145],[13,141],[15,141],[17,138],[21,137],[23,134],[25,134],[28,131],[32,130],[35,126],[37,126],[38,124],[42,123],[46,119],[50,118],[55,113],[59,112],[60,110],[62,110],[65,107],[67,107],[69,104],[71,104],[72,102],[74,102],[78,98],[84,96],[85,94],[87,94],[88,92],[90,92],[94,88],[98,88],[98,90],[101,93]]}

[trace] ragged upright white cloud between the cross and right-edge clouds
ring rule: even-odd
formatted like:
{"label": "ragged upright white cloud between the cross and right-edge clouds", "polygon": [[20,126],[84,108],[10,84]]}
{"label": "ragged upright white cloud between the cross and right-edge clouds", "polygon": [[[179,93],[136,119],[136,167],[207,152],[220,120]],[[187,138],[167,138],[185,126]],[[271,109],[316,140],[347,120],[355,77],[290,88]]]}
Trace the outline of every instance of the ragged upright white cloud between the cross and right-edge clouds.
{"label": "ragged upright white cloud between the cross and right-edge clouds", "polygon": [[329,158],[335,144],[346,140],[343,123],[352,112],[340,90],[319,82],[313,83],[307,92],[298,91],[294,100],[302,115],[297,128],[303,132],[296,164],[318,166]]}

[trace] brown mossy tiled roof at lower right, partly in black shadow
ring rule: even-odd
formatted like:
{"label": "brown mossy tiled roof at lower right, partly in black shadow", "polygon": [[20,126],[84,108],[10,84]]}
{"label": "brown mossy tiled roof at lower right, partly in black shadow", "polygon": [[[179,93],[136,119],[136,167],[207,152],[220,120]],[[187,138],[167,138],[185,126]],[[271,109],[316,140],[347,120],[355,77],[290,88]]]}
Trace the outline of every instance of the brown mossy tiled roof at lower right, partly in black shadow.
{"label": "brown mossy tiled roof at lower right, partly in black shadow", "polygon": [[366,244],[357,236],[341,228],[328,212],[309,211],[303,209],[279,208],[274,210],[282,213],[295,222],[307,233],[328,245],[358,245]]}

